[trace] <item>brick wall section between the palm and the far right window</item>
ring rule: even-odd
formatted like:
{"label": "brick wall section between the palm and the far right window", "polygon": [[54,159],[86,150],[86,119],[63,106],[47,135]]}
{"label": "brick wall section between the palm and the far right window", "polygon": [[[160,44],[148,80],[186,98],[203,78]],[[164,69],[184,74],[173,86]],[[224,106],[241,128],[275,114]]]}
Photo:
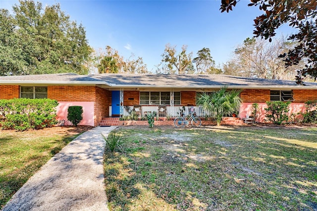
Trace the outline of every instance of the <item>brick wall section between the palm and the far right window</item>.
{"label": "brick wall section between the palm and the far right window", "polygon": [[266,89],[246,89],[240,93],[243,103],[265,103],[270,101],[270,91]]}

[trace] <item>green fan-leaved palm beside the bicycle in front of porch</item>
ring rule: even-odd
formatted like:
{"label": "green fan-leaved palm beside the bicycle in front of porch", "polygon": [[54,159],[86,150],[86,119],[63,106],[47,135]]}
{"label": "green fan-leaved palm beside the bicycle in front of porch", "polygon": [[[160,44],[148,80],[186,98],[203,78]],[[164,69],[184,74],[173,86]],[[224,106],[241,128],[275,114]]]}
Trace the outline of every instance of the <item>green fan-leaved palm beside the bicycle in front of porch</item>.
{"label": "green fan-leaved palm beside the bicycle in front of porch", "polygon": [[234,113],[241,105],[239,97],[242,90],[231,90],[227,92],[227,86],[221,87],[217,92],[210,95],[203,93],[198,98],[198,105],[202,105],[204,109],[211,112],[215,117],[217,125],[220,125],[222,117],[226,114]]}

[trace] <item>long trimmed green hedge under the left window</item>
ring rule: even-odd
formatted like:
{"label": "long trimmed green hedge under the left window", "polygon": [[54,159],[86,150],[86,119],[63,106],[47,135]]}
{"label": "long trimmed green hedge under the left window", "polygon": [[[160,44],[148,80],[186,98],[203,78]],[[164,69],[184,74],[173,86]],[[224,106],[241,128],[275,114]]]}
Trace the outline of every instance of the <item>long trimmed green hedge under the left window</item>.
{"label": "long trimmed green hedge under the left window", "polygon": [[57,101],[51,99],[0,100],[1,129],[41,129],[56,124]]}

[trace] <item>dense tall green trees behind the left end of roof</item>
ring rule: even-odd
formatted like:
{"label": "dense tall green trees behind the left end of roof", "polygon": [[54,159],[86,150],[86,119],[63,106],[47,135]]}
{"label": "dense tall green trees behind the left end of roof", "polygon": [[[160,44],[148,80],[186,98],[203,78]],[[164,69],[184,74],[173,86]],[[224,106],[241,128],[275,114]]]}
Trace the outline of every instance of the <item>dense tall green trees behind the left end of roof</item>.
{"label": "dense tall green trees behind the left end of roof", "polygon": [[87,74],[92,50],[84,27],[70,21],[59,4],[19,3],[14,15],[0,9],[0,75]]}

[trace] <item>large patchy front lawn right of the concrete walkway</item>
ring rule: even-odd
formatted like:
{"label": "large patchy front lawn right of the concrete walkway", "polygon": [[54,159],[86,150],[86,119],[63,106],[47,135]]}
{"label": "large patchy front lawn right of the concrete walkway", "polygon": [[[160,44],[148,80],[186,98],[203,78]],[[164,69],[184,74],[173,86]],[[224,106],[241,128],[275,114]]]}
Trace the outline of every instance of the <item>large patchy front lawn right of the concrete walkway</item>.
{"label": "large patchy front lawn right of the concrete walkway", "polygon": [[124,152],[105,154],[111,211],[317,210],[317,128],[120,132]]}

